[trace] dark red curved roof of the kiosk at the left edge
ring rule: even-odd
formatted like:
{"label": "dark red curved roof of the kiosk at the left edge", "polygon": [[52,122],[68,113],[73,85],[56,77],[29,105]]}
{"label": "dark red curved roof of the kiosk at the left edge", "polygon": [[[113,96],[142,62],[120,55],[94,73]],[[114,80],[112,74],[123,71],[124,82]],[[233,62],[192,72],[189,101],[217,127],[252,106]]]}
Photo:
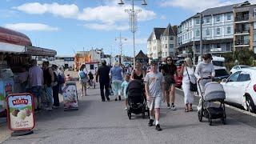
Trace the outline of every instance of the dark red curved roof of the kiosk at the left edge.
{"label": "dark red curved roof of the kiosk at the left edge", "polygon": [[32,46],[30,38],[18,31],[0,26],[0,42],[11,43],[19,46]]}

